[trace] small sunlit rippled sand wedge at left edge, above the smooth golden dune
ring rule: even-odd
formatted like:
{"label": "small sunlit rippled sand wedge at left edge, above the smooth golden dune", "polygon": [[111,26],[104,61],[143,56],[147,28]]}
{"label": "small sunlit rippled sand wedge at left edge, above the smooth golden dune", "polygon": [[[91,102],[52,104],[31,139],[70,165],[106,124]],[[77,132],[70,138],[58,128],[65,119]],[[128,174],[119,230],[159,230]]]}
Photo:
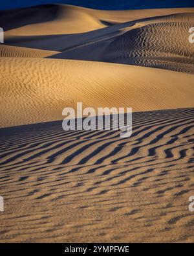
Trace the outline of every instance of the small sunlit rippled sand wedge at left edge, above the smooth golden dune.
{"label": "small sunlit rippled sand wedge at left edge, above the smooth golden dune", "polygon": [[56,51],[45,51],[0,44],[0,57],[45,58],[58,53],[59,52]]}

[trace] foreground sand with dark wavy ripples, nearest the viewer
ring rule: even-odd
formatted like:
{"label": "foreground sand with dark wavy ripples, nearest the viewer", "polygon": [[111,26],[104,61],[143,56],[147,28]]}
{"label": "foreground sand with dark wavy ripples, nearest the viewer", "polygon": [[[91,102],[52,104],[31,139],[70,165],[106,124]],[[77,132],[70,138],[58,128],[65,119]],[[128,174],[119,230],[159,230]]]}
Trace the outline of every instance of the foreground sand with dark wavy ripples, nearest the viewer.
{"label": "foreground sand with dark wavy ripples, nearest the viewer", "polygon": [[189,109],[134,113],[127,139],[1,130],[1,242],[193,242],[193,127]]}

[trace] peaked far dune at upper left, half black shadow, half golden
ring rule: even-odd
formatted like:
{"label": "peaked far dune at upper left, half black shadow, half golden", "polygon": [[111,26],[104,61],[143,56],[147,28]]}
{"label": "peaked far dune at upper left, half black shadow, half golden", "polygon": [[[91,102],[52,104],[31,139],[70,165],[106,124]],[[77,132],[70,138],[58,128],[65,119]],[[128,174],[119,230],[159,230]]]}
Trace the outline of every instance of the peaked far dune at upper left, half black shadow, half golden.
{"label": "peaked far dune at upper left, half black shadow, half golden", "polygon": [[6,36],[72,34],[101,29],[105,25],[87,8],[43,5],[1,12]]}

